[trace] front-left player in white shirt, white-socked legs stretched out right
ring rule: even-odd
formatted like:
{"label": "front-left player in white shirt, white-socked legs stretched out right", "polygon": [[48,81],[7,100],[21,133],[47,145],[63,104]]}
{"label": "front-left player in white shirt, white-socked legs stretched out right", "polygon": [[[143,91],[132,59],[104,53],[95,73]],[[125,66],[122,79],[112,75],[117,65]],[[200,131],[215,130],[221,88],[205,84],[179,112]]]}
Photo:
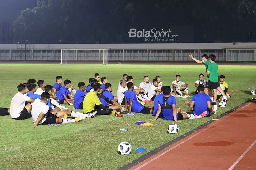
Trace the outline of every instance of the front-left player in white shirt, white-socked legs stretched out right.
{"label": "front-left player in white shirt, white-socked legs stretched out right", "polygon": [[[37,127],[38,124],[48,125],[48,124],[55,124],[55,123],[72,123],[78,122],[82,119],[82,116],[79,116],[75,119],[65,119],[65,118],[58,118],[57,116],[49,117],[46,116],[48,113],[49,107],[45,104],[50,95],[48,92],[43,92],[40,99],[35,99],[34,107],[32,108],[32,119],[34,122],[34,128]],[[48,114],[49,115],[49,114]]]}

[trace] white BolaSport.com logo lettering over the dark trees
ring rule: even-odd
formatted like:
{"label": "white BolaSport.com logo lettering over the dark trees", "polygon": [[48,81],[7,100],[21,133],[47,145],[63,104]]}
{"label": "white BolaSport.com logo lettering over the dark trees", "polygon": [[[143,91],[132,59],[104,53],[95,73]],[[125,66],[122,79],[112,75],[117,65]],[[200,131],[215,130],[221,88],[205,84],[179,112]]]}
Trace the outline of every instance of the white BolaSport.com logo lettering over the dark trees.
{"label": "white BolaSport.com logo lettering over the dark trees", "polygon": [[144,38],[144,41],[178,41],[178,35],[172,35],[170,29],[168,31],[157,31],[153,28],[149,30],[139,30],[131,28],[128,32],[129,38]]}

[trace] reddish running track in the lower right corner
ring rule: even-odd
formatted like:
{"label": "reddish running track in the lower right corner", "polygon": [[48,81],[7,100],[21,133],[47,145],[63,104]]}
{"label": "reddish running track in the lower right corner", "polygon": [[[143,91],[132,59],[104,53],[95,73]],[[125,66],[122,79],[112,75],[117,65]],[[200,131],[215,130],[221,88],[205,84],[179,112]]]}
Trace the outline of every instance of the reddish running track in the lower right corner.
{"label": "reddish running track in the lower right corner", "polygon": [[142,161],[150,152],[120,170],[255,170],[255,122],[256,102],[245,103],[146,160]]}

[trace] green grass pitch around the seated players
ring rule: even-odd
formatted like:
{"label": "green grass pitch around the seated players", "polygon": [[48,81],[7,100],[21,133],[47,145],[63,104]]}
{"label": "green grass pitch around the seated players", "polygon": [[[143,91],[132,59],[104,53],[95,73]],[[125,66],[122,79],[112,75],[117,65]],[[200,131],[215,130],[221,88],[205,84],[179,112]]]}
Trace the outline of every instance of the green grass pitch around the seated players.
{"label": "green grass pitch around the seated players", "polygon": [[[66,71],[68,70],[68,71]],[[17,85],[29,78],[45,80],[45,84],[54,84],[55,77],[77,83],[88,84],[88,78],[94,73],[106,76],[116,94],[118,81],[123,73],[133,76],[134,83],[139,86],[143,76],[152,80],[161,76],[163,85],[170,85],[176,74],[181,81],[189,84],[189,91],[195,91],[194,82],[200,73],[204,73],[203,65],[57,65],[57,64],[0,64],[0,106],[10,107],[10,102],[17,92]],[[226,76],[229,89],[234,90],[225,108],[218,108],[216,115],[197,120],[183,120],[177,123],[178,134],[168,134],[167,126],[171,121],[159,118],[148,121],[150,114],[115,117],[97,116],[78,123],[61,124],[59,127],[39,125],[33,128],[32,119],[12,120],[10,116],[0,117],[0,169],[118,169],[139,158],[143,154],[167,143],[170,140],[196,128],[212,118],[251,99],[248,87],[256,86],[255,66],[219,66],[219,73]],[[191,98],[189,98],[191,99]],[[177,99],[177,107],[188,110],[184,100]],[[147,104],[146,106],[149,106]],[[151,104],[152,105],[152,104]],[[68,106],[70,109],[72,106]],[[136,125],[137,121],[152,122],[154,126]],[[126,126],[129,122],[131,125]],[[128,132],[120,132],[119,128],[128,128]],[[117,146],[122,141],[132,145],[132,152],[123,156],[117,154]],[[136,154],[137,147],[145,148],[143,154]]]}

